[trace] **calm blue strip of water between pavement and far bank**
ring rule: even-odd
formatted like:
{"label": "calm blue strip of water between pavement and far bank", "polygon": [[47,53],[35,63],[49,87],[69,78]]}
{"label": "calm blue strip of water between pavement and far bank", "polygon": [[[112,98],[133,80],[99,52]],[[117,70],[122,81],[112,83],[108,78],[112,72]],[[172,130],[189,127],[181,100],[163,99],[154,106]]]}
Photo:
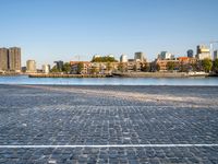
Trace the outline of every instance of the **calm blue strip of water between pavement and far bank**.
{"label": "calm blue strip of water between pavement and far bank", "polygon": [[0,77],[0,84],[57,85],[218,85],[218,78],[28,78]]}

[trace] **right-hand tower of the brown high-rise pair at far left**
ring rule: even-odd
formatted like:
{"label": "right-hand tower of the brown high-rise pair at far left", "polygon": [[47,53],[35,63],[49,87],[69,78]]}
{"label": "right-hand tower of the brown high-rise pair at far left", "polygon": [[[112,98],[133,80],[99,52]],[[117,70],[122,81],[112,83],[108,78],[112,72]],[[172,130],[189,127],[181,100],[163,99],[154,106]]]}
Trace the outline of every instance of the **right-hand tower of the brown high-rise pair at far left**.
{"label": "right-hand tower of the brown high-rise pair at far left", "polygon": [[21,48],[9,48],[9,70],[20,72],[21,71]]}

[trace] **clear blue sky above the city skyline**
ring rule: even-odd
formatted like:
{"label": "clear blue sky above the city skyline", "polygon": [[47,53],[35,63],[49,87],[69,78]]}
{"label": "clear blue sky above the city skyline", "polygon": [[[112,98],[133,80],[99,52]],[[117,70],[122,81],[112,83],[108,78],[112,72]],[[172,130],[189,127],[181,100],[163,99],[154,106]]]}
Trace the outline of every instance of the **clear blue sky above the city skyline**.
{"label": "clear blue sky above the city skyline", "polygon": [[218,40],[217,7],[218,0],[0,0],[0,47],[21,47],[22,65],[34,59],[38,68],[96,54],[185,56]]}

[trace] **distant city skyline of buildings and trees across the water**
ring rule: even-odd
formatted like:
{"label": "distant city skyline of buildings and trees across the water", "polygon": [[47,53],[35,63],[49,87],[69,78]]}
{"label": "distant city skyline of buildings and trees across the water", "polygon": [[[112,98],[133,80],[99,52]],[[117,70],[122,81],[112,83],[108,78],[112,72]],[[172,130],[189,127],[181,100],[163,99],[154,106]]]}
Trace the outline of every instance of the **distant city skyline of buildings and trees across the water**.
{"label": "distant city skyline of buildings and trees across the water", "polygon": [[177,57],[169,51],[160,51],[154,61],[148,62],[144,52],[135,52],[134,58],[121,55],[117,60],[113,55],[95,55],[90,61],[53,61],[55,66],[43,65],[36,68],[36,61],[29,59],[26,66],[21,66],[22,52],[20,47],[0,48],[0,73],[65,73],[65,74],[111,74],[112,72],[190,72],[190,71],[218,71],[218,49],[198,45],[196,55],[189,49],[186,56]]}

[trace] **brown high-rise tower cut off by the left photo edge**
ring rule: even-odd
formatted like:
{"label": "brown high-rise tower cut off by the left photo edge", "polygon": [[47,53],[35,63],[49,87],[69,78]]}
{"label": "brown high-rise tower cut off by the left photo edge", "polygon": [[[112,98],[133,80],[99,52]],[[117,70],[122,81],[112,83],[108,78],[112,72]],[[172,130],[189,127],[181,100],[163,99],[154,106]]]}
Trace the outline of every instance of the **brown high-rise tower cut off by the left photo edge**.
{"label": "brown high-rise tower cut off by the left photo edge", "polygon": [[7,71],[9,69],[8,60],[9,50],[7,48],[0,48],[0,70]]}

